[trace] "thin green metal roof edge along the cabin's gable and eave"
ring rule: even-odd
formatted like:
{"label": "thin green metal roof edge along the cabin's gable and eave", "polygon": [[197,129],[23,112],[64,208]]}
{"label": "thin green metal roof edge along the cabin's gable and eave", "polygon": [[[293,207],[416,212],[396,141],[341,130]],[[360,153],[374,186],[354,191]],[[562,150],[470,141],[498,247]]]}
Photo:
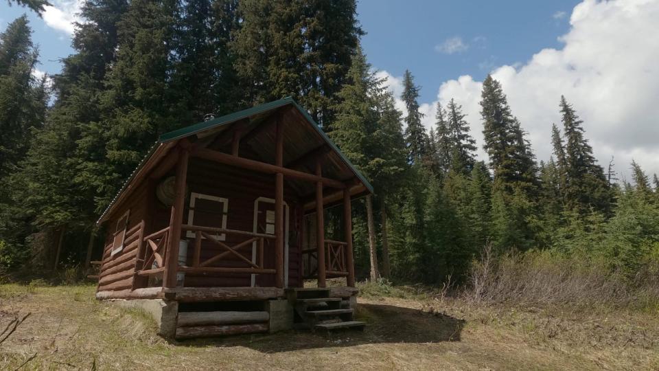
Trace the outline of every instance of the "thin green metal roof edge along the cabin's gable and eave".
{"label": "thin green metal roof edge along the cabin's gable and eave", "polygon": [[160,135],[158,141],[154,144],[154,146],[152,146],[152,148],[150,148],[150,150],[148,151],[146,156],[142,159],[142,161],[140,161],[137,168],[135,168],[135,170],[132,172],[130,177],[128,177],[128,179],[126,180],[126,182],[124,183],[122,188],[119,190],[119,192],[117,192],[114,199],[111,201],[110,205],[108,205],[108,207],[103,212],[103,214],[101,214],[101,216],[98,218],[98,221],[96,223],[100,223],[102,221],[102,219],[104,218],[104,216],[111,210],[111,208],[115,205],[117,199],[119,199],[119,196],[122,194],[122,192],[124,192],[124,190],[126,190],[126,188],[130,184],[132,179],[135,178],[135,176],[137,175],[139,170],[141,170],[141,168],[143,168],[143,166],[146,164],[148,159],[156,152],[156,149],[159,148],[160,144],[165,144],[165,143],[168,143],[168,142],[172,142],[174,140],[183,139],[185,137],[189,137],[190,135],[195,135],[195,134],[200,133],[202,131],[206,131],[210,128],[216,128],[218,126],[231,124],[231,123],[236,122],[238,120],[242,120],[244,118],[251,117],[251,116],[254,116],[254,115],[259,115],[260,113],[266,113],[268,111],[272,111],[273,109],[277,109],[281,106],[286,106],[288,104],[294,106],[295,109],[297,109],[297,111],[299,111],[299,113],[301,113],[303,115],[305,120],[307,120],[308,122],[310,122],[310,124],[312,124],[311,126],[316,130],[316,132],[318,132],[319,135],[321,135],[323,140],[325,140],[325,142],[327,142],[327,144],[329,144],[329,146],[332,148],[332,150],[334,150],[334,151],[336,151],[336,153],[338,153],[339,157],[355,173],[355,175],[362,182],[362,184],[364,184],[364,186],[367,188],[367,190],[369,190],[369,192],[373,193],[373,186],[371,186],[371,183],[369,183],[369,181],[366,179],[366,177],[364,177],[364,175],[362,175],[362,173],[359,170],[357,170],[357,168],[355,168],[355,166],[350,162],[350,160],[347,159],[347,157],[345,157],[345,155],[343,155],[343,153],[341,153],[341,151],[338,149],[336,144],[334,144],[332,142],[332,140],[330,140],[329,137],[327,137],[327,134],[325,134],[325,132],[314,121],[314,119],[312,119],[312,117],[309,115],[309,113],[305,109],[303,109],[299,104],[297,104],[297,102],[295,102],[293,100],[293,98],[286,97],[286,98],[283,98],[283,99],[280,99],[280,100],[275,100],[273,102],[260,104],[258,106],[254,106],[250,109],[244,109],[242,111],[230,113],[229,115],[224,115],[222,117],[218,117],[218,118],[215,118],[213,120],[198,122],[196,124],[193,124],[193,125],[190,125],[190,126],[185,126],[184,128],[179,128],[179,129],[176,129],[174,131],[170,131],[168,133],[164,133],[164,134]]}

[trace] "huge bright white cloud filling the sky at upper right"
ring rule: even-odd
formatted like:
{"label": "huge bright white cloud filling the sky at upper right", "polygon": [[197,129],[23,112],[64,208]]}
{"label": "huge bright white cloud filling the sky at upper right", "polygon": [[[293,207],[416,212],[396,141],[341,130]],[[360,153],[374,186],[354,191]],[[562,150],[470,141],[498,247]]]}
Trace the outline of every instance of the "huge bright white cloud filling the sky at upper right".
{"label": "huge bright white cloud filling the sky at upper right", "polygon": [[[584,121],[594,154],[606,167],[629,179],[635,159],[649,174],[659,173],[659,1],[585,0],[570,16],[562,49],[542,49],[527,63],[492,69],[513,114],[529,132],[537,159],[551,155],[551,124],[560,124],[565,95]],[[478,102],[482,82],[460,76],[443,82],[437,100],[463,105],[472,135],[483,145]],[[421,104],[430,127],[435,102]],[[479,157],[487,159],[482,148]]]}

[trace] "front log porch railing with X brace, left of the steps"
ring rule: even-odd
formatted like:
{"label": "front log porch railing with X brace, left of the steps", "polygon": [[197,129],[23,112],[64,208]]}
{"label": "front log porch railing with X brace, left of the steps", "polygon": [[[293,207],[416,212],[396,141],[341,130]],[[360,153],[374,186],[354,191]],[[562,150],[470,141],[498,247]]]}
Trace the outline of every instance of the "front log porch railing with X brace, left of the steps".
{"label": "front log porch railing with X brace, left of the steps", "polygon": [[[264,258],[264,245],[266,240],[275,240],[275,236],[271,234],[260,234],[253,232],[240,231],[235,229],[226,229],[226,228],[213,228],[213,227],[200,227],[197,225],[183,225],[181,226],[183,231],[191,231],[194,233],[194,245],[192,247],[192,266],[179,266],[178,271],[182,272],[196,272],[196,273],[207,273],[207,272],[222,272],[222,273],[253,273],[253,274],[275,274],[277,273],[276,269],[266,269],[265,268],[265,258]],[[246,240],[243,240],[240,243],[236,243],[233,246],[229,246],[227,243],[218,240],[215,236],[220,234],[225,235],[234,235],[245,237]],[[215,235],[215,236],[213,236]],[[223,251],[207,258],[201,260],[201,243],[202,240],[208,240],[213,245],[220,247]],[[250,256],[251,254],[241,254],[240,251],[252,247],[254,244],[257,246],[257,256],[253,261]],[[251,250],[250,250],[251,253]],[[213,267],[212,265],[220,262],[223,258],[237,258],[239,261],[245,264],[244,267]]]}

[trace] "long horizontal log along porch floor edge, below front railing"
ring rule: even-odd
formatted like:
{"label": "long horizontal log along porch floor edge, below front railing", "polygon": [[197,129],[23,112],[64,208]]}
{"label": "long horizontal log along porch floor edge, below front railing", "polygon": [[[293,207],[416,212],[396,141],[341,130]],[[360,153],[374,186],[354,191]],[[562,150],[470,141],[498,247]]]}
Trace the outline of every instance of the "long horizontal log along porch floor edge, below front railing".
{"label": "long horizontal log along porch floor edge, below front railing", "polygon": [[284,289],[276,287],[178,287],[164,289],[165,293],[174,293],[178,302],[220,302],[268,300],[284,297]]}

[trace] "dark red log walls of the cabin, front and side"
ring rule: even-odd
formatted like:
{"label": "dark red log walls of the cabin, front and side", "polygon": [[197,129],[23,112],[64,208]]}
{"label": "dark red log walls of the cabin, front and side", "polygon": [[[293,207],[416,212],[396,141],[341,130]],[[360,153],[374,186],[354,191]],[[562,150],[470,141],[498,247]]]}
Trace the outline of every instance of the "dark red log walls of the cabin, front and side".
{"label": "dark red log walls of the cabin, front and side", "polygon": [[[252,172],[240,168],[233,168],[218,164],[214,161],[207,161],[191,157],[189,160],[187,172],[187,196],[185,199],[185,210],[183,211],[183,223],[203,225],[209,227],[222,227],[221,218],[219,215],[213,216],[207,214],[202,216],[200,212],[195,214],[193,222],[188,221],[190,194],[205,194],[215,196],[222,199],[227,199],[227,214],[226,218],[227,229],[238,229],[241,231],[253,232],[254,228],[254,206],[255,200],[259,198],[275,199],[275,176],[266,175],[260,172]],[[173,171],[165,175],[169,177],[173,175]],[[163,177],[163,179],[165,178]],[[104,250],[103,265],[101,268],[100,286],[99,291],[105,290],[119,290],[130,289],[132,282],[132,274],[135,269],[135,261],[137,257],[137,234],[135,232],[136,242],[124,248],[124,251],[116,254],[110,258],[111,245],[113,236],[115,234],[115,225],[117,221],[124,215],[126,210],[130,209],[128,216],[128,229],[139,227],[142,219],[145,221],[146,228],[143,235],[148,235],[157,232],[160,229],[167,227],[170,223],[170,207],[160,203],[155,197],[155,186],[157,181],[143,181],[134,194],[123,203],[122,207],[118,207],[116,215],[113,215],[107,224],[108,235],[106,238],[106,249]],[[294,189],[286,183],[284,179],[284,202],[289,207],[289,225],[288,225],[288,286],[297,287],[302,286],[301,278],[301,223],[302,223],[302,203],[299,201],[299,196]],[[196,201],[196,207],[204,206],[203,201],[199,199]],[[205,206],[212,205],[206,203]],[[217,204],[216,204],[217,205]],[[274,210],[275,204],[271,205],[271,210]],[[267,208],[267,206],[265,207]],[[264,203],[259,203],[259,210],[264,210]],[[221,210],[218,210],[221,211]],[[138,228],[139,229],[139,228]],[[264,233],[259,230],[258,232]],[[128,235],[126,235],[128,238]],[[181,238],[187,239],[188,254],[187,265],[192,265],[192,247],[194,245],[194,238],[186,236],[185,232]],[[247,238],[245,236],[235,236],[227,234],[224,243],[229,246],[236,245]],[[129,241],[130,242],[130,241]],[[266,269],[275,268],[275,240],[266,240],[265,242],[265,256],[266,256]],[[202,241],[200,260],[206,260],[222,252],[221,247],[207,241]],[[252,249],[248,247],[240,251],[247,258],[251,258]],[[108,268],[115,267],[116,263],[113,261],[121,260],[122,268],[126,278],[123,278],[120,284],[107,286],[103,281],[104,271]],[[219,262],[213,263],[216,267],[246,267],[245,263],[238,260],[231,255],[222,258]],[[113,272],[117,269],[113,269]],[[275,286],[275,275],[262,274],[256,276],[256,286]],[[116,282],[116,281],[115,281]],[[194,274],[186,273],[185,286],[192,287],[207,287],[207,286],[251,286],[250,274],[239,273],[205,273]],[[114,282],[113,282],[114,283]],[[146,281],[139,282],[136,287],[145,286]]]}

